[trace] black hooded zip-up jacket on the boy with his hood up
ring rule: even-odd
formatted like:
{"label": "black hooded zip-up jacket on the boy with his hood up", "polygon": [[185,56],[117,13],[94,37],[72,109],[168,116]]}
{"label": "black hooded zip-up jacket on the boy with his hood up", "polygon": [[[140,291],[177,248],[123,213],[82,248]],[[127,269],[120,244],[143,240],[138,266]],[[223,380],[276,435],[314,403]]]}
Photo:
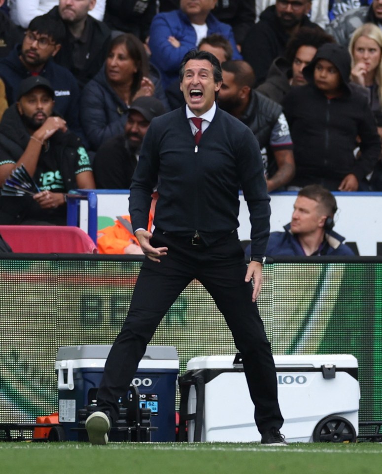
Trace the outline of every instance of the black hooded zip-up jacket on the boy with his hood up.
{"label": "black hooded zip-up jacket on the boy with his hood up", "polygon": [[[343,79],[343,93],[327,98],[313,80],[318,59],[332,62]],[[292,87],[283,106],[294,145],[296,174],[290,186],[322,184],[337,191],[341,181],[352,173],[362,180],[381,153],[375,119],[365,95],[349,82],[350,57],[337,44],[321,46],[304,69],[308,85]],[[360,138],[360,156],[354,157]]]}

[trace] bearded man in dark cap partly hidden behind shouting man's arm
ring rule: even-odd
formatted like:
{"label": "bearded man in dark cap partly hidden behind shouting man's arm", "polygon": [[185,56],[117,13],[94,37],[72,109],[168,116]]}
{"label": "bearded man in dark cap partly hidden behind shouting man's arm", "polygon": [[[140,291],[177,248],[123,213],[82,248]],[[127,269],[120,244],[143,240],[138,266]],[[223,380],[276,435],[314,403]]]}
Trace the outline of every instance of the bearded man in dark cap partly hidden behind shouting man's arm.
{"label": "bearded man in dark cap partly hidden behind shouting man's arm", "polygon": [[139,97],[130,107],[125,133],[107,140],[94,157],[98,189],[129,189],[138,163],[140,147],[154,117],[165,113],[155,97]]}

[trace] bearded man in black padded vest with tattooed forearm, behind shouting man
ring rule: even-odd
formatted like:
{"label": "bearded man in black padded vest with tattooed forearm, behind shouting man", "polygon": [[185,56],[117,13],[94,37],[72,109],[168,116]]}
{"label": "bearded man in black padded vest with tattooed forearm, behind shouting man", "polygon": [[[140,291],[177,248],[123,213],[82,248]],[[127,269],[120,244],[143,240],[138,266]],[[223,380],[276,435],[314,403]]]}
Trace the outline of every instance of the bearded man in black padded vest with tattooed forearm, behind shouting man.
{"label": "bearded man in black padded vest with tattooed forearm, behind shouting man", "polygon": [[268,191],[285,186],[294,176],[295,164],[289,127],[281,106],[252,89],[255,77],[245,61],[226,61],[221,68],[219,107],[239,118],[257,138]]}

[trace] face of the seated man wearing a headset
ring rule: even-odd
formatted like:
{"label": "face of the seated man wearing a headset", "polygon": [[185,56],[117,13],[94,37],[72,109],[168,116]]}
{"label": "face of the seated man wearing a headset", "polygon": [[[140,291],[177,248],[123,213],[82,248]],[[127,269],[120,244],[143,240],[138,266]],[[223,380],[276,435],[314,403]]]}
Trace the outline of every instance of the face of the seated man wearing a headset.
{"label": "face of the seated man wearing a headset", "polygon": [[322,228],[327,216],[320,212],[320,204],[314,199],[298,196],[293,206],[290,230],[293,234],[313,234]]}

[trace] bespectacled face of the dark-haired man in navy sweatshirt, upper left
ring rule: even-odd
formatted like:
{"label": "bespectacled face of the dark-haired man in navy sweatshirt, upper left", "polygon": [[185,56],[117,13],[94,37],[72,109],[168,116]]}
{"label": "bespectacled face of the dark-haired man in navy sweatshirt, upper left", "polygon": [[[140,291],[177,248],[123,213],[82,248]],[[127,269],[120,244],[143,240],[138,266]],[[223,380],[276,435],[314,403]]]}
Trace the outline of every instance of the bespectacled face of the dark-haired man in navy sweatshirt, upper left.
{"label": "bespectacled face of the dark-haired man in navy sweatshirt, upper left", "polygon": [[53,42],[48,35],[39,35],[36,31],[27,30],[21,46],[21,59],[27,66],[41,66],[55,56],[60,47],[61,45]]}

